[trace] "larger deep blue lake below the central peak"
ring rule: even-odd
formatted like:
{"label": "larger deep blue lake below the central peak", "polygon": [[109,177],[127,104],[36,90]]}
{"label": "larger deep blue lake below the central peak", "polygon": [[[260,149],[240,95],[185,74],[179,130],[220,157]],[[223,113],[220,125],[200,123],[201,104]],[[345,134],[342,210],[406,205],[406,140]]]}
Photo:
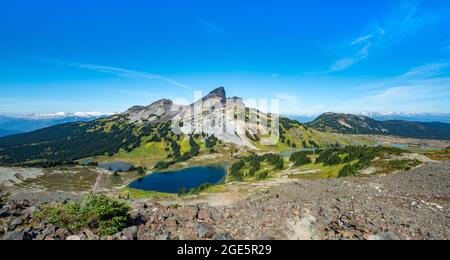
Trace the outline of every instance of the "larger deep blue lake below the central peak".
{"label": "larger deep blue lake below the central peak", "polygon": [[157,172],[132,182],[129,187],[144,191],[178,193],[181,189],[193,189],[202,184],[220,184],[225,181],[222,167],[202,166],[169,172]]}

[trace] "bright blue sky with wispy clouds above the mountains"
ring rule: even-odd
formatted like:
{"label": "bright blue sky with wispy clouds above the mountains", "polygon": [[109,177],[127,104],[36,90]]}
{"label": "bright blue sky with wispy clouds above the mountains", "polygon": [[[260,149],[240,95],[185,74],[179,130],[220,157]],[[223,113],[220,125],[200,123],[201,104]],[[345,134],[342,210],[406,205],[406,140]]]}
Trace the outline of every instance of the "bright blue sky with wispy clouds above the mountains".
{"label": "bright blue sky with wispy clouds above the mountains", "polygon": [[0,114],[121,112],[218,86],[290,115],[450,113],[448,0],[158,2],[3,1]]}

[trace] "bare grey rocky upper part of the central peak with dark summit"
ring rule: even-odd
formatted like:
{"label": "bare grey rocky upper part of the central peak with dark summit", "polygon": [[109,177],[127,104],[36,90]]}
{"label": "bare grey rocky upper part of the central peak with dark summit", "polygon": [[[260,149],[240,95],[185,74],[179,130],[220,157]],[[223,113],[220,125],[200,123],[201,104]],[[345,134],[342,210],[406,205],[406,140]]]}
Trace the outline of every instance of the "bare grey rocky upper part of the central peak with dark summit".
{"label": "bare grey rocky upper part of the central peak with dark summit", "polygon": [[[242,116],[235,118],[235,114],[226,112],[227,106],[237,108]],[[243,115],[246,106],[241,98],[227,99],[223,87],[211,91],[205,97],[188,106],[175,105],[171,100],[162,99],[149,106],[135,106],[124,114],[132,122],[157,123],[172,121],[180,125],[179,133],[186,135],[206,133],[218,139],[240,146],[254,148],[246,133],[267,135],[267,126],[257,125],[256,122],[246,123]],[[249,109],[257,113],[254,109]],[[260,114],[260,118],[267,118]],[[178,124],[177,124],[178,122]]]}

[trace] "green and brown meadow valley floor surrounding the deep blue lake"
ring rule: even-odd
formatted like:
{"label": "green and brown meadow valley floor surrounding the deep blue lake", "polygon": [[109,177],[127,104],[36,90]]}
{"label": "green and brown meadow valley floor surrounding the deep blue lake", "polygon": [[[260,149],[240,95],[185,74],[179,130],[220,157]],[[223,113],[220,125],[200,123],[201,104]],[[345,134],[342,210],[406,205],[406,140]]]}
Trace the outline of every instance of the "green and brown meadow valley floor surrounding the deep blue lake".
{"label": "green and brown meadow valley floor surrounding the deep blue lake", "polygon": [[[396,140],[398,141],[398,140]],[[368,149],[368,148],[366,148]],[[297,149],[298,151],[299,149]],[[401,150],[395,148],[395,154],[387,156],[385,159],[376,158],[370,165],[361,169],[360,176],[371,176],[376,174],[390,174],[397,171],[402,171],[410,168],[415,168],[418,165],[430,162],[439,162],[449,160],[449,156],[441,151],[422,150],[417,152],[416,150]],[[402,151],[398,154],[398,151]],[[315,163],[317,157],[322,151],[318,151],[317,154],[313,154],[311,150],[306,152],[300,150],[297,153],[308,154],[311,158],[310,163],[295,165],[295,162],[291,161],[291,156],[294,152],[288,154],[280,154],[280,158],[283,161],[283,168],[276,170],[270,163],[262,162],[258,167],[258,170],[252,170],[252,162],[245,163],[244,167],[240,169],[240,172],[244,174],[244,177],[236,179],[232,174],[232,166],[238,164],[239,161],[249,160],[250,158],[257,156],[250,150],[241,150],[239,153],[233,153],[231,155],[224,154],[204,154],[199,155],[189,161],[177,163],[170,166],[169,169],[164,171],[176,171],[180,169],[189,169],[199,166],[219,165],[225,167],[228,177],[224,184],[208,187],[205,190],[197,194],[193,194],[194,198],[189,196],[183,196],[181,200],[198,200],[197,196],[204,197],[204,195],[211,195],[213,198],[216,196],[224,197],[239,197],[239,194],[252,192],[259,187],[272,187],[278,186],[282,183],[295,182],[297,180],[320,180],[320,179],[336,179],[339,177],[339,173],[347,164],[345,162],[338,162],[332,165],[324,165],[323,163]],[[261,156],[264,154],[275,154],[260,152]],[[341,155],[343,157],[343,155]],[[91,158],[93,159],[93,158]],[[104,159],[105,162],[109,159],[109,162],[127,161],[129,163],[136,162],[134,160],[127,160],[124,157],[112,157],[112,158],[98,158]],[[435,160],[436,159],[436,160]],[[98,160],[101,162],[102,160]],[[388,162],[402,162],[398,165],[389,164]],[[254,173],[250,174],[250,171]],[[150,170],[150,172],[152,172]],[[264,176],[265,172],[269,173]],[[132,188],[128,188],[128,185],[135,180],[143,178],[145,173],[141,173],[138,170],[131,170],[125,172],[114,172],[111,169],[101,168],[99,166],[83,166],[83,165],[70,165],[70,166],[55,166],[50,168],[21,168],[21,167],[0,167],[1,184],[9,187],[12,198],[15,200],[30,200],[38,203],[49,202],[53,200],[64,201],[65,199],[80,198],[90,193],[104,193],[108,196],[116,198],[128,198],[128,199],[161,199],[168,197],[170,200],[177,198],[177,192],[175,194],[159,193],[150,191],[139,191]],[[259,177],[261,175],[261,177]],[[101,183],[98,183],[99,176]],[[264,177],[262,177],[264,176]],[[213,201],[209,200],[213,203]],[[216,202],[220,203],[220,202]]]}

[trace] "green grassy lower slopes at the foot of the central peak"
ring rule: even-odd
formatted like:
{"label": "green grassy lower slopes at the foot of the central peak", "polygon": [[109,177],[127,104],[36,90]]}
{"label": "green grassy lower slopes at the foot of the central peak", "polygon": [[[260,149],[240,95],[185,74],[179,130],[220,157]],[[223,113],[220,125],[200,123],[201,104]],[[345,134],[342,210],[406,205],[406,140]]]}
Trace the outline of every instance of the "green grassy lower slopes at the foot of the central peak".
{"label": "green grassy lower slopes at the foot of the central peak", "polygon": [[[104,130],[108,130],[109,128],[110,125],[105,124]],[[342,145],[369,144],[369,141],[365,140],[364,138],[347,137],[340,134],[322,133],[310,128],[306,128],[295,121],[289,121],[289,125],[281,124],[281,131],[282,131],[281,134],[282,140],[284,142],[280,141],[273,146],[262,145],[260,141],[253,141],[252,143],[255,145],[257,150],[259,150],[259,152],[271,152],[271,153],[281,153],[283,151],[301,148],[312,148],[315,145],[325,147],[336,143],[340,143]],[[170,147],[170,145],[164,140],[161,140],[160,142],[157,143],[154,142],[148,143],[152,135],[143,137],[141,140],[141,145],[131,152],[126,152],[125,150],[122,149],[120,150],[119,153],[111,157],[98,156],[90,159],[99,162],[124,161],[132,163],[135,166],[143,166],[148,169],[151,169],[157,162],[169,161],[170,159],[168,159],[167,156],[171,153],[170,150],[167,151],[167,147]],[[171,140],[175,141],[177,140],[177,138],[175,136],[172,136]],[[180,146],[181,154],[190,151],[191,147],[189,145],[188,136],[183,135],[176,142]],[[235,161],[235,158],[232,158],[232,154],[233,151],[235,151],[238,148],[236,147],[236,145],[223,144],[219,142],[214,148],[218,153],[211,154],[210,149],[205,147],[205,142],[201,136],[195,138],[195,142],[201,148],[200,155],[186,162],[173,165],[170,167],[171,169],[190,167],[195,165],[231,163]],[[288,145],[287,143],[290,143],[291,145]],[[292,148],[292,144],[295,144],[296,148]]]}

